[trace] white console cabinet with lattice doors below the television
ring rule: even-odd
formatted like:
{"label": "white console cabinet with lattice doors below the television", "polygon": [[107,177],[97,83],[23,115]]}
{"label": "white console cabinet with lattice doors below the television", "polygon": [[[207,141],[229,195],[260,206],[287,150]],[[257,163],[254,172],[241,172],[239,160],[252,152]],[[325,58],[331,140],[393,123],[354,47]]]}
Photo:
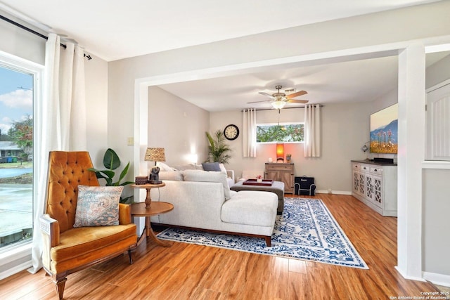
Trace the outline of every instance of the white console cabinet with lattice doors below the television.
{"label": "white console cabinet with lattice doors below the television", "polygon": [[397,216],[397,164],[352,160],[352,195],[383,216]]}

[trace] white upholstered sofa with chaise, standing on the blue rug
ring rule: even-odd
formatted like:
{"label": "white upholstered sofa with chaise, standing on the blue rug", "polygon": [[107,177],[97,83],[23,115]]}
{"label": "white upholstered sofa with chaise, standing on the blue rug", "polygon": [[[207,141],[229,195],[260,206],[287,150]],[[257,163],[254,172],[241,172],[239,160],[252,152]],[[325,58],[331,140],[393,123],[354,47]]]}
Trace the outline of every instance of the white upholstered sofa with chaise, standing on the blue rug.
{"label": "white upholstered sofa with chaise, standing on the blue rug", "polygon": [[218,171],[161,171],[165,187],[152,189],[152,201],[174,204],[152,223],[212,232],[263,237],[271,245],[278,197],[260,191],[234,192]]}

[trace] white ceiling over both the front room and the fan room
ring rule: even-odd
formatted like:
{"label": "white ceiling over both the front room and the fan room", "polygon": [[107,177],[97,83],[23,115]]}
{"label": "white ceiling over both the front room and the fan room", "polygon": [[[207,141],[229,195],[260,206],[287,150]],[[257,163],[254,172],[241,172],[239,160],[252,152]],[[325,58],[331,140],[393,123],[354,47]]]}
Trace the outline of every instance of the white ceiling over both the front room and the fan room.
{"label": "white ceiling over both the front room and the fan room", "polygon": [[[430,0],[0,0],[0,9],[75,39],[107,61],[167,51]],[[442,53],[428,56],[428,64]],[[371,72],[367,72],[371,70]],[[160,86],[209,111],[267,107],[259,91],[305,90],[310,103],[359,102],[397,84],[397,58],[375,58]]]}

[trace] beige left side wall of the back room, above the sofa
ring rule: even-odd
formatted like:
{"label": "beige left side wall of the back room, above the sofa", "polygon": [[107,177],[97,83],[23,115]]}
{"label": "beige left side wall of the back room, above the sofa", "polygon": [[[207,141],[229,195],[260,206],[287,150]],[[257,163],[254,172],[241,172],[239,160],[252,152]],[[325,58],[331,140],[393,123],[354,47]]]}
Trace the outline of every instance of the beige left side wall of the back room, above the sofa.
{"label": "beige left side wall of the back room, above the sofa", "polygon": [[[205,132],[210,113],[156,86],[148,89],[148,147],[165,148],[166,164],[191,164],[207,159]],[[150,166],[149,166],[150,167]]]}

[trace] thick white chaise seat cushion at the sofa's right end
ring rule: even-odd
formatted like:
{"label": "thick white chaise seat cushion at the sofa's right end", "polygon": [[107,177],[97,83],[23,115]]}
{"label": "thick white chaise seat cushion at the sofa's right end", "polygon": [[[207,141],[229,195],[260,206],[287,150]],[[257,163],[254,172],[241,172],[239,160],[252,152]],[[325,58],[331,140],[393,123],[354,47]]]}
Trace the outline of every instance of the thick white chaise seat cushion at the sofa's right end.
{"label": "thick white chaise seat cushion at the sofa's right end", "polygon": [[278,197],[271,192],[243,190],[224,202],[221,220],[255,226],[274,226]]}

